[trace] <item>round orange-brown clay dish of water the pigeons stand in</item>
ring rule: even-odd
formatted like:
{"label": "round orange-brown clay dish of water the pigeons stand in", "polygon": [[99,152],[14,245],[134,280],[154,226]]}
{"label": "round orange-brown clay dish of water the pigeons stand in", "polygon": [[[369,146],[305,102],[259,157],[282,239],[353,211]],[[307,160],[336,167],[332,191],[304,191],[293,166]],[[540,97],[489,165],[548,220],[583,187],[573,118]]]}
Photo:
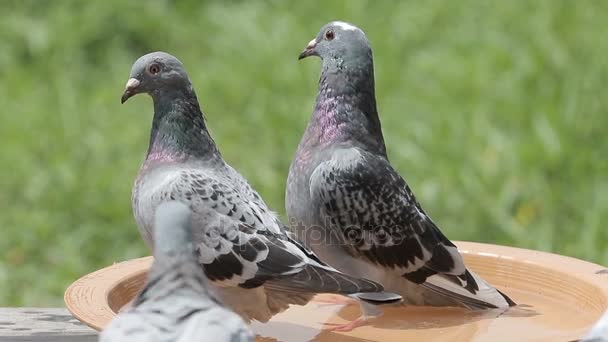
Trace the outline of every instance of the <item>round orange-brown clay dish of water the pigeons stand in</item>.
{"label": "round orange-brown clay dish of water the pigeons stand in", "polygon": [[[323,323],[353,320],[359,307],[313,300],[251,328],[258,341],[570,341],[581,338],[608,308],[608,271],[602,266],[520,248],[456,245],[468,267],[519,305],[502,314],[386,307],[370,326],[334,333],[323,331]],[[68,310],[90,327],[103,329],[136,295],[151,264],[152,257],[133,259],[78,279],[65,292]]]}

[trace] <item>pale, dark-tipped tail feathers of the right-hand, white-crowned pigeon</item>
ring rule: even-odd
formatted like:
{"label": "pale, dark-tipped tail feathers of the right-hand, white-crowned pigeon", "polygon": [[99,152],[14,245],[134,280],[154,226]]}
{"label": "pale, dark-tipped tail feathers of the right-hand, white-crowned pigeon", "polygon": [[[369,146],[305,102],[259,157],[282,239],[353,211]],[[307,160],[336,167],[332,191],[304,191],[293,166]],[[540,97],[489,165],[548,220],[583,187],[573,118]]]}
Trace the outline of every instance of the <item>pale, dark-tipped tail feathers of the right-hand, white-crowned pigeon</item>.
{"label": "pale, dark-tipped tail feathers of the right-hand, white-crowned pigeon", "polygon": [[[429,277],[422,286],[441,295],[452,304],[472,310],[508,308],[516,305],[511,298],[488,284],[473,272],[467,271],[466,281],[455,282],[453,277],[437,274]],[[471,282],[475,282],[475,286]],[[471,289],[477,288],[475,291]]]}

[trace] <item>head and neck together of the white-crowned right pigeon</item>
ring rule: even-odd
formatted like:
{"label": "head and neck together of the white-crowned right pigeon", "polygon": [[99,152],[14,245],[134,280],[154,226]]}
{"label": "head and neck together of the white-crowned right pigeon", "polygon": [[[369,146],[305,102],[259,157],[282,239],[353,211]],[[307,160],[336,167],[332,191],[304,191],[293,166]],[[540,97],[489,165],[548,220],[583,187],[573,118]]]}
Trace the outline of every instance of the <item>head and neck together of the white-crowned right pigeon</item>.
{"label": "head and neck together of the white-crowned right pigeon", "polygon": [[385,153],[374,85],[372,49],[365,33],[342,21],[324,25],[299,59],[323,60],[319,92],[300,147],[358,141]]}

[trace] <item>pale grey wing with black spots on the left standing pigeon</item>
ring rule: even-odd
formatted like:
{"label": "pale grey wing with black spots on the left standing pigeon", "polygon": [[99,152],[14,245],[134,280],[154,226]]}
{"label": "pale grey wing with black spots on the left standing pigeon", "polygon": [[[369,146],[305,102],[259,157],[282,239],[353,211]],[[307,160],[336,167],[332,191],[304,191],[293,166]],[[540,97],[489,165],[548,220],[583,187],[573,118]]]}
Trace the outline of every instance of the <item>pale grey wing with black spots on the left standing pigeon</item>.
{"label": "pale grey wing with black spots on the left standing pigeon", "polygon": [[[236,177],[236,176],[235,176]],[[378,284],[338,273],[283,231],[261,200],[196,169],[175,173],[168,197],[190,204],[196,222],[198,260],[210,281],[281,291],[356,293],[382,291]],[[259,197],[257,197],[259,198]],[[204,225],[204,226],[203,226]]]}

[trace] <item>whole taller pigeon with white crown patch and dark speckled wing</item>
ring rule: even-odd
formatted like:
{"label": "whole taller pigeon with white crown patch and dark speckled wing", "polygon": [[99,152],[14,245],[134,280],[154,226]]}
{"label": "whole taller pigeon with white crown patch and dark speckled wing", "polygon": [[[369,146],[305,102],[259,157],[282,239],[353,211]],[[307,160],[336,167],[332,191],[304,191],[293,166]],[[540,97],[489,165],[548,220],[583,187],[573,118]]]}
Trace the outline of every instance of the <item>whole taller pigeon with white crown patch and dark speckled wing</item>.
{"label": "whole taller pigeon with white crown patch and dark speckled wing", "polygon": [[324,262],[381,283],[402,295],[403,304],[513,306],[466,268],[456,246],[390,164],[365,33],[345,22],[326,24],[299,59],[309,56],[321,58],[322,70],[287,179],[286,210],[294,234]]}

